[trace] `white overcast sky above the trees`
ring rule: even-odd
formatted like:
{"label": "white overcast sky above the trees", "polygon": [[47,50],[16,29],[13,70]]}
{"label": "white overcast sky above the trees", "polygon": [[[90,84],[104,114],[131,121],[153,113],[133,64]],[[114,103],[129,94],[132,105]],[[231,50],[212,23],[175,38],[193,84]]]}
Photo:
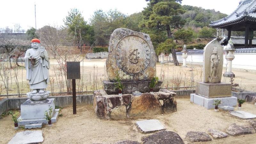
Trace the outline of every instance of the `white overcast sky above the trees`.
{"label": "white overcast sky above the trees", "polygon": [[[230,14],[240,0],[183,0],[182,5],[192,5],[204,9],[215,9]],[[1,0],[0,28],[14,28],[18,23],[22,29],[35,27],[35,3],[37,29],[44,25],[63,25],[63,19],[71,8],[82,12],[85,20],[93,15],[96,9],[108,11],[117,9],[127,15],[140,12],[147,6],[145,0]]]}

